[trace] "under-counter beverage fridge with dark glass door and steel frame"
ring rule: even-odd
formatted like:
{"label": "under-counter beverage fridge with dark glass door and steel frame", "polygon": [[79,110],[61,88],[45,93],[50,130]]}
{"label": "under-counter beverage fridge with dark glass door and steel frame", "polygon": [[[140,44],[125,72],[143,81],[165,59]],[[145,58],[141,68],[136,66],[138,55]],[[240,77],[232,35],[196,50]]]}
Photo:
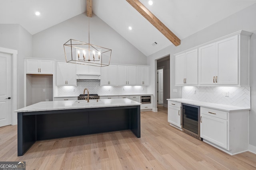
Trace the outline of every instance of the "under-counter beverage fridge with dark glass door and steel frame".
{"label": "under-counter beverage fridge with dark glass door and steel frame", "polygon": [[182,131],[199,140],[200,138],[200,106],[182,104]]}

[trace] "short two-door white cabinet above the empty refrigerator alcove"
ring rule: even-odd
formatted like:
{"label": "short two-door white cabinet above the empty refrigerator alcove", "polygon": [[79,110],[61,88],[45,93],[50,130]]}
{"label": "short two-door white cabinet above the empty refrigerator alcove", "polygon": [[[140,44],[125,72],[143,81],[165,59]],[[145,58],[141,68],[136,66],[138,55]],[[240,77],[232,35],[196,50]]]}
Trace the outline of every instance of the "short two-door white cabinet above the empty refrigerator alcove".
{"label": "short two-door white cabinet above the empty refrigerator alcove", "polygon": [[26,74],[53,74],[53,61],[26,59]]}

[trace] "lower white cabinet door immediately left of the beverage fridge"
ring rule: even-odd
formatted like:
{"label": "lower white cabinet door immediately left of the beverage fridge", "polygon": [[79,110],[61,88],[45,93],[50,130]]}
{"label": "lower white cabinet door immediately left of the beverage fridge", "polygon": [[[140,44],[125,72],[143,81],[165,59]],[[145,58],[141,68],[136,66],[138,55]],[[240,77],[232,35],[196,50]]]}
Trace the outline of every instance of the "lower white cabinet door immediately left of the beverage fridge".
{"label": "lower white cabinet door immediately left of the beverage fridge", "polygon": [[181,113],[179,107],[168,106],[168,122],[181,128]]}

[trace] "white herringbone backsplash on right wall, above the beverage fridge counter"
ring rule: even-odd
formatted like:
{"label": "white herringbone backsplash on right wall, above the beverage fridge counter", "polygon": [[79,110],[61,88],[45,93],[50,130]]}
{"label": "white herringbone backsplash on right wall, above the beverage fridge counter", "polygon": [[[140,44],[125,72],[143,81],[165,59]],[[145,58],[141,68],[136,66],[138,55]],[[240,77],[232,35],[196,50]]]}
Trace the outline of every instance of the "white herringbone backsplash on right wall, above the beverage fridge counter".
{"label": "white herringbone backsplash on right wall, above the beverage fridge counter", "polygon": [[[182,98],[197,100],[202,102],[211,102],[217,104],[226,104],[238,107],[250,107],[250,87],[198,87],[183,86]],[[228,92],[228,97],[225,96]]]}

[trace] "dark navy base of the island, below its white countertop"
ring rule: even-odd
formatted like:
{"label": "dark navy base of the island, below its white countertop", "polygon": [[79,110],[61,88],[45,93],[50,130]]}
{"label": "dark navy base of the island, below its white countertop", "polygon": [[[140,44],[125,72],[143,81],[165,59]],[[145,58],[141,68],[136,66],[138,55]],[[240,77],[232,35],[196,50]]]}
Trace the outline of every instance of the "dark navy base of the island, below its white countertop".
{"label": "dark navy base of the island, below its white countertop", "polygon": [[18,156],[36,141],[126,129],[140,138],[140,106],[18,112]]}

